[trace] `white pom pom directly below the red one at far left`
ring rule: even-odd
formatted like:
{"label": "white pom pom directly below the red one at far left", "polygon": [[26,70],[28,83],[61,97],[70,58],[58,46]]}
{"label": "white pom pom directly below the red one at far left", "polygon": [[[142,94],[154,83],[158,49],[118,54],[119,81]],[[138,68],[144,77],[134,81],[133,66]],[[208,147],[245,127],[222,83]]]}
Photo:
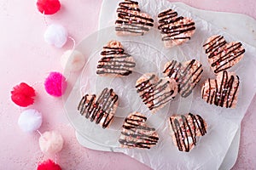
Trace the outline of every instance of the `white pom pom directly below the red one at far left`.
{"label": "white pom pom directly below the red one at far left", "polygon": [[26,133],[36,131],[42,125],[42,114],[34,109],[22,111],[18,120],[18,125],[22,131]]}

